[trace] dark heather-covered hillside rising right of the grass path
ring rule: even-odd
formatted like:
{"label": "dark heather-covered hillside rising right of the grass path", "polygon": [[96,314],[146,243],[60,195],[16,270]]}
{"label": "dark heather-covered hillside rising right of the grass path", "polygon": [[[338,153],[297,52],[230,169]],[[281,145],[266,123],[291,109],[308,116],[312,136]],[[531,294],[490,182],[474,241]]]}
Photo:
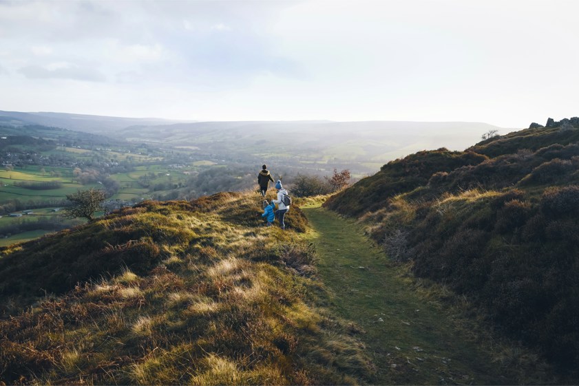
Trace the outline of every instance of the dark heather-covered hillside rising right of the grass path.
{"label": "dark heather-covered hillside rising right of the grass path", "polygon": [[[540,127],[454,157],[417,153],[326,205],[578,379],[578,140],[578,129]],[[467,155],[476,162],[457,162]]]}

